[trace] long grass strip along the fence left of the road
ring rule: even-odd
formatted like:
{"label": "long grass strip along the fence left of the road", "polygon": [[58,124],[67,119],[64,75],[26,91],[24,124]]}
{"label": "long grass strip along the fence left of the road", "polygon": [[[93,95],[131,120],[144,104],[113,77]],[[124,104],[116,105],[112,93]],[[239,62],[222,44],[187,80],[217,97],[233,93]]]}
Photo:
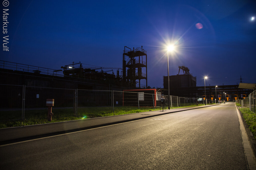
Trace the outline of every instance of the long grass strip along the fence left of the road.
{"label": "long grass strip along the fence left of the road", "polygon": [[[198,104],[198,106],[203,106],[204,104]],[[182,106],[182,107],[172,107],[175,108],[184,108],[184,107],[194,107],[196,105]],[[164,108],[165,110],[168,107]],[[162,110],[161,107],[158,108],[144,108],[141,107],[115,107],[114,113],[111,112],[111,107],[84,107],[78,108],[77,116],[74,115],[73,108],[63,108],[63,109],[52,109],[52,121],[47,121],[47,109],[40,110],[25,110],[25,120],[21,119],[21,111],[1,111],[0,114],[0,128],[7,127],[16,127],[16,126],[27,126],[35,124],[44,124],[44,123],[53,123],[53,122],[63,122],[71,120],[80,120],[80,119],[89,119],[93,117],[104,117],[104,116],[113,116],[113,115],[122,115],[130,113],[140,113],[146,111]],[[17,120],[14,120],[17,119]],[[6,120],[6,121],[3,121]],[[9,121],[8,121],[9,120]]]}

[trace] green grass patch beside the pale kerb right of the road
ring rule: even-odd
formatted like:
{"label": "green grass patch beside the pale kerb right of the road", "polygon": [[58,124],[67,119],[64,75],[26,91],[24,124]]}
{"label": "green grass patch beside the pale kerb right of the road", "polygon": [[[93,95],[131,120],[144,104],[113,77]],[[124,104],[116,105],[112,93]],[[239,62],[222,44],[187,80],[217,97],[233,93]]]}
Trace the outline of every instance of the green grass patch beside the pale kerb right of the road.
{"label": "green grass patch beside the pale kerb right of the road", "polygon": [[248,124],[254,138],[256,139],[256,114],[252,113],[249,108],[240,108],[239,109]]}

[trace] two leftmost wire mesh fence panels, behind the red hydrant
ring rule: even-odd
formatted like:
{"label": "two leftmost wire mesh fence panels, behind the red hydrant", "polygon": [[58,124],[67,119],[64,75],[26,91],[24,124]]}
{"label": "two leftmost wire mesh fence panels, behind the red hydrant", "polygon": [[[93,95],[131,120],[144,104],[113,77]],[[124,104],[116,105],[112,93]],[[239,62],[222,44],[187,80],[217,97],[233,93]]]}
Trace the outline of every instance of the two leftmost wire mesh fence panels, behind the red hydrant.
{"label": "two leftmost wire mesh fence panels, behind the red hydrant", "polygon": [[[47,117],[46,99],[54,99],[55,117],[74,116],[75,89],[0,84],[0,121]],[[26,114],[25,114],[26,112]]]}

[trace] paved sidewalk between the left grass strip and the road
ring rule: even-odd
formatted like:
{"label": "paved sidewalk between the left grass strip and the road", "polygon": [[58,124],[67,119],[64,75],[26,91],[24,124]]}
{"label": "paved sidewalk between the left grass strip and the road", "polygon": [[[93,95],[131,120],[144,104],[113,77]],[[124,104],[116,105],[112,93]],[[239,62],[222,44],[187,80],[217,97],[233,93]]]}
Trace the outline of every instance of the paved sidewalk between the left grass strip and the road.
{"label": "paved sidewalk between the left grass strip and the road", "polygon": [[118,124],[123,122],[145,119],[145,118],[154,117],[158,115],[164,115],[168,113],[175,113],[175,112],[210,107],[215,105],[218,105],[218,104],[187,107],[187,108],[177,108],[177,109],[170,109],[170,110],[167,109],[164,111],[157,110],[157,111],[148,111],[148,112],[141,112],[141,113],[107,116],[107,117],[97,117],[97,118],[74,120],[74,121],[67,121],[67,122],[56,122],[56,123],[47,123],[47,124],[39,124],[39,125],[3,128],[3,129],[0,129],[0,145],[24,141],[24,140],[36,139],[41,137],[59,135],[64,133],[76,132],[79,130],[113,125],[113,124]]}

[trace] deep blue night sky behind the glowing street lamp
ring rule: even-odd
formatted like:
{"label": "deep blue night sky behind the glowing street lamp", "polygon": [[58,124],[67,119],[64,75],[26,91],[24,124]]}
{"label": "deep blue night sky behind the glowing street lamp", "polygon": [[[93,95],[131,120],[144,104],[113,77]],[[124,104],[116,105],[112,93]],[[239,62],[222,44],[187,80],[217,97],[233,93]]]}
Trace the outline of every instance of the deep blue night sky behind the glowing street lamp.
{"label": "deep blue night sky behind the glowing street lamp", "polygon": [[[2,5],[2,4],[1,4]],[[74,62],[122,67],[124,46],[147,51],[148,85],[163,88],[185,65],[197,86],[256,83],[256,2],[218,1],[12,1],[9,51],[1,60],[60,69]],[[196,28],[201,23],[203,28]],[[142,84],[146,84],[142,82]]]}

